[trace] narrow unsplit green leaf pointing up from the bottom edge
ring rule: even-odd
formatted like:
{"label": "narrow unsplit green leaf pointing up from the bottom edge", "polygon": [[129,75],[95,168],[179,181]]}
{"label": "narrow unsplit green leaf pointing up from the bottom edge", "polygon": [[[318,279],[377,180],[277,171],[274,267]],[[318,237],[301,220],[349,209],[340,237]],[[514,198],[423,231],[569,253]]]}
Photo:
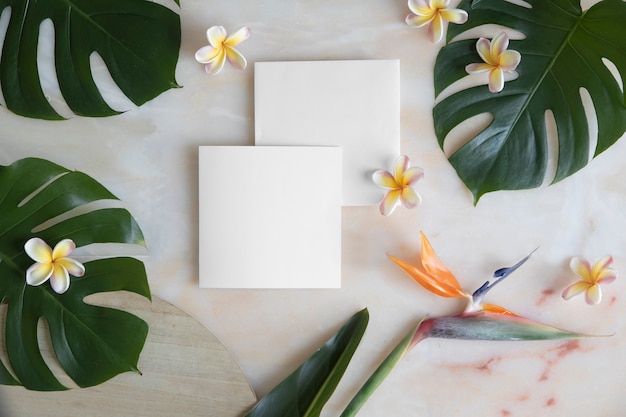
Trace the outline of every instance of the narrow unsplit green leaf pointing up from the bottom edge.
{"label": "narrow unsplit green leaf pointing up from the bottom edge", "polygon": [[369,313],[350,318],[324,346],[263,397],[246,417],[318,417],[367,328]]}

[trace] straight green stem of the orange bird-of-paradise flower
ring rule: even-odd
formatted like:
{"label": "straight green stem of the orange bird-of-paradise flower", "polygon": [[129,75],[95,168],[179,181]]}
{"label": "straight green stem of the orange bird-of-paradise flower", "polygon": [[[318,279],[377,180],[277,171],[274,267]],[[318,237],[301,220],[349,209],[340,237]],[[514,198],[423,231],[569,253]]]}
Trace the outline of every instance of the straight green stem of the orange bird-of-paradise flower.
{"label": "straight green stem of the orange bird-of-paradise flower", "polygon": [[369,399],[369,397],[376,391],[376,388],[383,383],[385,378],[396,367],[398,362],[406,355],[413,346],[426,337],[426,333],[420,331],[420,326],[424,319],[421,319],[416,326],[414,326],[409,333],[396,345],[391,353],[385,358],[385,360],[376,368],[374,373],[363,384],[359,392],[356,393],[350,404],[343,410],[341,417],[354,417],[359,412],[361,407]]}

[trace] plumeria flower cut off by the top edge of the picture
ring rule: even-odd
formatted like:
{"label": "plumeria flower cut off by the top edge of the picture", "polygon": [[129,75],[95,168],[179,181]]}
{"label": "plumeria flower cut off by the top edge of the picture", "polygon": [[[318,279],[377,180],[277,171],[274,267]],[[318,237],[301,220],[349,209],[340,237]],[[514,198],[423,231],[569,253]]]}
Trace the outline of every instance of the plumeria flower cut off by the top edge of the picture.
{"label": "plumeria flower cut off by the top edge of the picture", "polygon": [[411,12],[406,23],[422,27],[428,25],[428,34],[432,42],[443,38],[443,21],[452,23],[467,22],[467,12],[462,9],[451,9],[450,0],[409,0]]}

